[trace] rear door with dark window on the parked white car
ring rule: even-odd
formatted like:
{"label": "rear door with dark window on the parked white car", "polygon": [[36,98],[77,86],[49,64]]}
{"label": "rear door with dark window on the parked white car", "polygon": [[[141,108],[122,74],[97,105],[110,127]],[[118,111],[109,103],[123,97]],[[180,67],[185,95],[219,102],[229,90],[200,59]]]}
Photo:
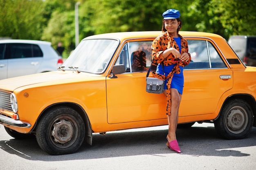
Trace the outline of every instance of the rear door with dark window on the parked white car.
{"label": "rear door with dark window on the parked white car", "polygon": [[[10,43],[7,44],[9,59],[7,77],[17,77],[37,73],[43,59],[43,53],[34,56],[35,44]],[[39,47],[38,47],[39,48]]]}

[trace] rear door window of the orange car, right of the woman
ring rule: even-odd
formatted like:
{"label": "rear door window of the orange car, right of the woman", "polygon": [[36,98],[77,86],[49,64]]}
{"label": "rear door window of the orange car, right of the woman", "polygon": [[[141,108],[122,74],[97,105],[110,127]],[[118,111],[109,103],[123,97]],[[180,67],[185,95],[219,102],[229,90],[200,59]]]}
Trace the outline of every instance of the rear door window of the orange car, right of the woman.
{"label": "rear door window of the orange car, right of the woman", "polygon": [[211,42],[205,40],[188,40],[191,62],[184,69],[225,68],[218,51]]}

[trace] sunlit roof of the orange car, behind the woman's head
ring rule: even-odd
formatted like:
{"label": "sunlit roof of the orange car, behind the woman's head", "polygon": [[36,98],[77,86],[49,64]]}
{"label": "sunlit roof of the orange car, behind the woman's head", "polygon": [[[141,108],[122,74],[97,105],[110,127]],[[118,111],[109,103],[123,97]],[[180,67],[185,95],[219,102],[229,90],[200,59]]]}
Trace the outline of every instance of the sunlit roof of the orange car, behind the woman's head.
{"label": "sunlit roof of the orange car, behind the woman's head", "polygon": [[[117,38],[119,40],[129,39],[129,38],[155,38],[158,35],[161,35],[162,31],[134,31],[134,32],[119,32],[119,33],[104,33],[98,35],[91,35],[84,38],[87,39],[97,39],[97,38]],[[183,37],[218,37],[222,38],[220,35],[213,33],[204,33],[197,31],[180,31],[180,35]]]}

